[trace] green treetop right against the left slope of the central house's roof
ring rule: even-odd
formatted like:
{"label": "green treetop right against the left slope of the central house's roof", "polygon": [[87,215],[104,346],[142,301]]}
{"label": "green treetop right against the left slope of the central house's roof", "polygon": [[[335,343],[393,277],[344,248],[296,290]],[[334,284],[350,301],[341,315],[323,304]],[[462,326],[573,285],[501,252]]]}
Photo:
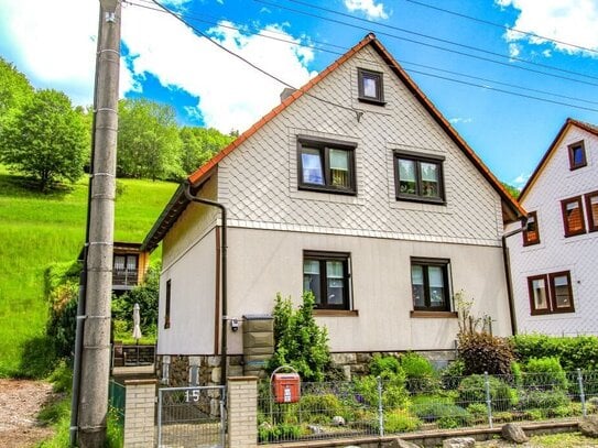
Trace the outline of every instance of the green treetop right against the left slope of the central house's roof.
{"label": "green treetop right against the left slope of the central house's roof", "polygon": [[194,127],[182,128],[180,135],[183,142],[181,166],[187,174],[193,173],[236,138],[225,135],[214,128]]}

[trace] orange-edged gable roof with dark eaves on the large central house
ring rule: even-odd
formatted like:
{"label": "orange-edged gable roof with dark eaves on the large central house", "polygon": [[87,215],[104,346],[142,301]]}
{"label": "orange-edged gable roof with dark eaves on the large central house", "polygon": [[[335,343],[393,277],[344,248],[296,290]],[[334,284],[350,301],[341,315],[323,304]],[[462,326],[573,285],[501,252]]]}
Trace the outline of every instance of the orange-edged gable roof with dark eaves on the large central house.
{"label": "orange-edged gable roof with dark eaves on the large central house", "polygon": [[[399,65],[399,63],[390,55],[390,53],[384,48],[384,46],[378,41],[373,33],[369,33],[363,37],[357,45],[350,48],[347,53],[340,56],[331,65],[326,67],[320,72],[316,77],[311,79],[306,85],[295,90],[292,95],[285,98],[280,105],[272,109],[269,113],[263,116],[258,122],[255,122],[251,128],[240,134],[232,143],[226,146],[222,151],[216,154],[211,160],[202,165],[198,170],[192,173],[186,183],[192,186],[198,186],[207,178],[209,178],[210,173],[218,166],[218,163],[233,152],[237,147],[243,144],[248,139],[250,139],[255,132],[258,132],[265,123],[272,120],[274,117],[280,114],[289,106],[291,106],[295,100],[302,96],[308,94],[308,91],[317,85],[319,81],[325,79],[328,75],[336,70],[337,67],[343,65],[351,56],[362,50],[365,46],[371,45],[372,48],[382,57],[382,59],[388,64],[388,66],[396,74],[396,76],[404,83],[409,90],[415,96],[415,98],[422,103],[422,106],[431,113],[434,120],[443,128],[443,130],[450,136],[450,139],[459,146],[465,155],[474,163],[474,165],[480,171],[482,176],[492,185],[492,187],[500,195],[503,205],[507,206],[507,209],[503,207],[503,219],[514,220],[522,216],[525,216],[525,210],[519,205],[519,203],[512,198],[512,196],[507,192],[502,184],[494,177],[494,175],[488,170],[483,162],[478,157],[478,155],[469,147],[469,145],[463,140],[463,138],[455,131],[450,123],[442,116],[442,113],[436,109],[432,101],[420,90],[416,84],[411,79],[405,70]],[[178,216],[188,205],[188,199],[185,198],[185,186],[182,185],[173,195],[171,201],[166,205],[164,211],[159,217],[154,227],[150,230],[148,237],[143,242],[143,248],[154,248],[157,243],[164,238],[168,229],[174,225]]]}

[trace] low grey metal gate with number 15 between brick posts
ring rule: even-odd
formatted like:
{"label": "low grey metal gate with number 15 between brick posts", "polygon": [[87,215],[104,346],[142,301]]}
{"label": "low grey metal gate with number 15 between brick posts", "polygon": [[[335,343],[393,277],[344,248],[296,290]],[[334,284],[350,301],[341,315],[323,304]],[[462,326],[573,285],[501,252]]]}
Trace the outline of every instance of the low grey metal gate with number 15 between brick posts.
{"label": "low grey metal gate with number 15 between brick posts", "polygon": [[225,387],[189,386],[157,390],[157,446],[224,447]]}

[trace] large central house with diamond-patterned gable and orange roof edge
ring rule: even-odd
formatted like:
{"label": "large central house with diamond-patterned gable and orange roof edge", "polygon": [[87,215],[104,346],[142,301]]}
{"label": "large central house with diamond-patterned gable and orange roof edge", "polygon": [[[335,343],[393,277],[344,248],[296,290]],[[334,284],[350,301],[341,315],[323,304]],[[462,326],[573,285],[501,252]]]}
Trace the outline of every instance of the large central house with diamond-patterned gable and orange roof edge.
{"label": "large central house with diamond-patterned gable and orange roof edge", "polygon": [[142,247],[163,241],[166,363],[215,365],[226,350],[239,364],[243,331],[232,327],[272,313],[279,292],[296,304],[314,292],[344,363],[453,353],[461,289],[496,335],[511,334],[501,237],[524,211],[372,34],[187,184],[227,208],[227,303],[220,211],[189,203],[184,184]]}

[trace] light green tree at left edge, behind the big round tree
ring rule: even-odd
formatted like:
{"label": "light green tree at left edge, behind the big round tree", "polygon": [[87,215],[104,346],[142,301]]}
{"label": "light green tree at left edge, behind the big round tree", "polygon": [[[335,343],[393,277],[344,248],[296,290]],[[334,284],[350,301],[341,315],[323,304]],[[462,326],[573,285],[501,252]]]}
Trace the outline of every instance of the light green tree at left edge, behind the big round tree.
{"label": "light green tree at left edge, behind the big round tree", "polygon": [[25,75],[0,57],[0,131],[2,122],[33,96],[33,87]]}

